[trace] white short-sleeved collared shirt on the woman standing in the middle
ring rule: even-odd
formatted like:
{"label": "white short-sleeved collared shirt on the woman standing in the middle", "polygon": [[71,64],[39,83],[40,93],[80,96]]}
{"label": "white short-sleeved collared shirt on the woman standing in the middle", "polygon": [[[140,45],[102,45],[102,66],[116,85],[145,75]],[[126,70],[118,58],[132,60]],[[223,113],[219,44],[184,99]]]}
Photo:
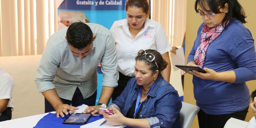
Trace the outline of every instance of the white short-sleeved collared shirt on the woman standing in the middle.
{"label": "white short-sleeved collared shirt on the woman standing in the middle", "polygon": [[154,49],[160,54],[171,50],[162,25],[146,18],[144,28],[135,38],[131,36],[127,19],[115,21],[110,28],[116,43],[118,71],[134,77],[135,57],[141,49]]}

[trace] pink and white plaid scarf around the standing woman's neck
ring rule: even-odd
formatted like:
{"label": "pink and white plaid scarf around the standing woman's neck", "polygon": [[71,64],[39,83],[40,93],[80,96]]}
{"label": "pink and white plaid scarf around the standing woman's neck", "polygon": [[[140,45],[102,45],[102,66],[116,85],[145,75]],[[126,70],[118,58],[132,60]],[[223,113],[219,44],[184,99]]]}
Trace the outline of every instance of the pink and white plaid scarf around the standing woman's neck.
{"label": "pink and white plaid scarf around the standing woman's neck", "polygon": [[[227,24],[229,21],[230,20],[226,21]],[[197,47],[197,51],[194,57],[195,63],[198,67],[203,67],[208,46],[221,34],[221,32],[224,30],[224,27],[225,26],[222,26],[222,24],[214,28],[209,28],[206,24],[203,25],[203,29],[201,32],[201,44]]]}

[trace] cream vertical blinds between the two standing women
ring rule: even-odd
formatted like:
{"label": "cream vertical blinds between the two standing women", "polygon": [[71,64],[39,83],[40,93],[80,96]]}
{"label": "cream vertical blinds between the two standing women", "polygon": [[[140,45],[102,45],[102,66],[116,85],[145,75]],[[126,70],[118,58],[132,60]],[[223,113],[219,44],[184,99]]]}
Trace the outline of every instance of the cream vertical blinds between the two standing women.
{"label": "cream vertical blinds between the two standing women", "polygon": [[151,0],[152,20],[164,27],[171,46],[181,47],[186,30],[187,0]]}

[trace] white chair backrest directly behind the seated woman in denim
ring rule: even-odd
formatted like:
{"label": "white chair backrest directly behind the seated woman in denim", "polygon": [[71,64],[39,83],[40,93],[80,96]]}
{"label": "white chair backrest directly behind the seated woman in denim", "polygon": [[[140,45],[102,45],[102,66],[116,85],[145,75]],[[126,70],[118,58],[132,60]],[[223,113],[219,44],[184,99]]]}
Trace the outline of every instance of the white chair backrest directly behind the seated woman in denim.
{"label": "white chair backrest directly behind the seated woman in denim", "polygon": [[199,110],[198,106],[182,102],[182,108],[179,113],[181,128],[189,128]]}

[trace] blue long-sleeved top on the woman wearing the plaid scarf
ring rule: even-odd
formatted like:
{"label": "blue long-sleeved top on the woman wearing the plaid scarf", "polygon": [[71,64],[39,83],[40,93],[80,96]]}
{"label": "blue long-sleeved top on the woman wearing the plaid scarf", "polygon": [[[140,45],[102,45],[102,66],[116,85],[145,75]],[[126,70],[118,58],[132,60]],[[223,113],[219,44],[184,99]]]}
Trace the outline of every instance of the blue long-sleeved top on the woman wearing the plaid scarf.
{"label": "blue long-sleeved top on the woman wearing the plaid scarf", "polygon": [[[187,58],[194,61],[195,51],[201,44],[201,31]],[[235,83],[203,80],[193,76],[194,96],[197,105],[207,114],[228,114],[249,106],[250,94],[246,81],[256,79],[256,53],[251,32],[236,18],[230,20],[222,33],[210,43],[203,68],[216,72],[233,70]]]}

